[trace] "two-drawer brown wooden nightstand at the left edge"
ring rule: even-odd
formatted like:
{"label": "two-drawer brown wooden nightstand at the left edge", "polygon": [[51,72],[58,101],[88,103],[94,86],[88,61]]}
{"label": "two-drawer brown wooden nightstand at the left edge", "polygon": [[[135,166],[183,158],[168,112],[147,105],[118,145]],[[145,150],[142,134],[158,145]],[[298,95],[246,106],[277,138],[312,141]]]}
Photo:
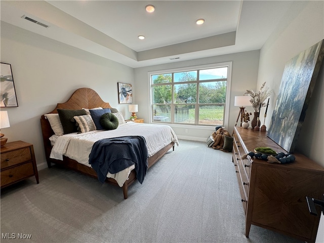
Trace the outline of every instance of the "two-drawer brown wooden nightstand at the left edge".
{"label": "two-drawer brown wooden nightstand at the left edge", "polygon": [[38,171],[33,145],[23,141],[6,143],[1,147],[1,188],[35,176]]}

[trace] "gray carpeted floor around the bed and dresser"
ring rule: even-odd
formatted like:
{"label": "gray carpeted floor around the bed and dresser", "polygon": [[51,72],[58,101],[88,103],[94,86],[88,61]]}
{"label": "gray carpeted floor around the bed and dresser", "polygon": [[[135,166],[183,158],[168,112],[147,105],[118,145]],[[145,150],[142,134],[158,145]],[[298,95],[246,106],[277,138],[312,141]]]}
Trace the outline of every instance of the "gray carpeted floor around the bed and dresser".
{"label": "gray carpeted floor around the bed and dresser", "polygon": [[1,233],[1,242],[302,242],[254,225],[246,238],[231,153],[186,140],[126,200],[119,187],[55,167],[39,171],[39,184],[3,189]]}

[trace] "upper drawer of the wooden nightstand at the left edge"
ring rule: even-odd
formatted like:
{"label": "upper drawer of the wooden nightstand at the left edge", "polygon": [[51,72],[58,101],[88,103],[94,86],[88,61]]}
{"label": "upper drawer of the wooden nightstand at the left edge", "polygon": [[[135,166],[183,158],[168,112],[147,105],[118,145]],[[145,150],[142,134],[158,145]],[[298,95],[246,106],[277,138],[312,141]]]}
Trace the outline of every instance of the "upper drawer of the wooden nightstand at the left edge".
{"label": "upper drawer of the wooden nightstand at the left edge", "polygon": [[1,169],[32,160],[30,148],[21,148],[1,153]]}

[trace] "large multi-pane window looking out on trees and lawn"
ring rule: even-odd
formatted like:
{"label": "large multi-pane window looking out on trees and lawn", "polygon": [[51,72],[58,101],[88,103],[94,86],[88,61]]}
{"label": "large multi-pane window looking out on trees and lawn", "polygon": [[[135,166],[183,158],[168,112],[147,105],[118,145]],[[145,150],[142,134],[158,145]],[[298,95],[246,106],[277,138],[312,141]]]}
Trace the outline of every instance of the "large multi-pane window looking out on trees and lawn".
{"label": "large multi-pane window looking out on trees and lawn", "polygon": [[230,73],[231,62],[150,72],[152,121],[225,126]]}

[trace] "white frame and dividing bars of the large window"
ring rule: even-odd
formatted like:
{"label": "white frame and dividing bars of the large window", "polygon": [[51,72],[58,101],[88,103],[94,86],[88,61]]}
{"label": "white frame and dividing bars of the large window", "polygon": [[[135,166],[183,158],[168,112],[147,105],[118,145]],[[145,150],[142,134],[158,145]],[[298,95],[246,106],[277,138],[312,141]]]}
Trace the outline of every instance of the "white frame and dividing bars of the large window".
{"label": "white frame and dividing bars of the large window", "polygon": [[[174,75],[174,73],[176,72],[189,72],[189,71],[193,71],[193,70],[199,70],[199,69],[210,69],[210,68],[220,68],[220,67],[227,67],[227,79],[226,80],[226,99],[225,99],[225,109],[224,109],[224,119],[223,119],[223,127],[228,127],[228,123],[229,123],[229,105],[230,105],[230,90],[231,90],[231,74],[232,74],[232,62],[222,62],[222,63],[213,63],[213,64],[206,64],[206,65],[198,65],[198,66],[190,66],[190,67],[180,67],[180,68],[172,68],[172,69],[164,69],[164,70],[156,70],[156,71],[149,71],[148,74],[148,81],[149,81],[149,98],[150,98],[150,106],[149,106],[149,120],[150,123],[152,124],[168,124],[168,125],[172,125],[172,126],[179,126],[179,127],[184,127],[184,126],[188,126],[188,127],[215,127],[216,125],[207,125],[207,124],[188,124],[188,123],[174,123],[172,121],[170,122],[156,122],[153,120],[153,100],[152,100],[152,87],[154,86],[152,84],[152,80],[151,80],[151,76],[152,75],[158,75],[158,74],[168,74],[171,73],[172,76]],[[199,71],[198,71],[199,74]],[[197,76],[198,79],[198,76]],[[199,113],[197,109],[199,107],[199,84],[200,83],[208,83],[208,82],[215,82],[215,80],[220,81],[220,79],[210,79],[210,80],[196,80],[196,81],[192,81],[192,83],[196,83],[197,85],[197,97],[196,97],[196,103],[194,103],[195,105],[195,120],[198,119]],[[186,82],[187,83],[187,82]],[[178,85],[181,84],[180,82],[173,82],[172,83],[167,83],[167,85],[172,85],[172,87],[174,87],[174,85]],[[174,97],[174,89],[172,89],[172,97]],[[174,107],[176,105],[182,105],[182,104],[177,104],[174,103],[174,100],[171,103],[171,113],[172,113],[172,117],[174,116]],[[213,104],[211,104],[213,105]],[[172,119],[171,119],[172,120]],[[199,121],[197,120],[197,123],[199,123]]]}

